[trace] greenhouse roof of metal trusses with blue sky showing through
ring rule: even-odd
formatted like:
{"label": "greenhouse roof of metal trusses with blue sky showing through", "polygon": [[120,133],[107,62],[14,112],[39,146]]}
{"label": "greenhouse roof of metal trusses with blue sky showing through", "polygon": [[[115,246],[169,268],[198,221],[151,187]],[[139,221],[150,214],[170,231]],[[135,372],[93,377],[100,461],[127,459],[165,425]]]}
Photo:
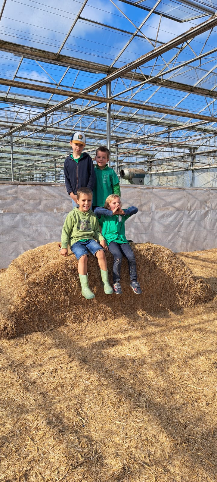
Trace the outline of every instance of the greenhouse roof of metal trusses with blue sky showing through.
{"label": "greenhouse roof of metal trusses with blue sky showing through", "polygon": [[[156,174],[189,172],[192,186],[194,171],[216,169],[212,2],[170,1],[166,8],[163,0],[104,0],[101,9],[90,0],[70,2],[72,23],[59,34],[46,29],[35,2],[38,33],[29,35],[22,1],[8,27],[10,1],[0,10],[1,181],[63,182],[75,130],[86,133],[93,158],[105,145],[117,173],[142,169],[150,183]],[[52,14],[57,22],[61,12],[59,2],[44,7],[48,20]]]}

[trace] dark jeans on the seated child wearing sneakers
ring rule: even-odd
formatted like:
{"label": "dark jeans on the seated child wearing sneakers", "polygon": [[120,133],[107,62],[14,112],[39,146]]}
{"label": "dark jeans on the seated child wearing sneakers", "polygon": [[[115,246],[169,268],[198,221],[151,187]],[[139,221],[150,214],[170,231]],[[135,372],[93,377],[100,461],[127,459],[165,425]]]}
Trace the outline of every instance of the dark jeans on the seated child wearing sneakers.
{"label": "dark jeans on the seated child wearing sneakers", "polygon": [[136,260],[129,243],[119,244],[115,241],[111,241],[108,245],[108,249],[114,256],[113,283],[120,281],[123,255],[128,260],[130,281],[137,281]]}

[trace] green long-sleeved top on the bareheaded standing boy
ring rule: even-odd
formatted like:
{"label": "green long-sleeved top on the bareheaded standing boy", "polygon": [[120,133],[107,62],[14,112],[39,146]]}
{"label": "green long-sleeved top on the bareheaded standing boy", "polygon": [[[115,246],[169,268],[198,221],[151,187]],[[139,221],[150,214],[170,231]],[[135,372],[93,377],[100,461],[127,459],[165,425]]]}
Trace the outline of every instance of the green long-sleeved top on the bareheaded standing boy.
{"label": "green long-sleeved top on the bareheaded standing boy", "polygon": [[104,206],[105,200],[110,194],[121,195],[119,179],[114,169],[108,166],[100,169],[94,167],[96,182],[93,189],[93,206]]}

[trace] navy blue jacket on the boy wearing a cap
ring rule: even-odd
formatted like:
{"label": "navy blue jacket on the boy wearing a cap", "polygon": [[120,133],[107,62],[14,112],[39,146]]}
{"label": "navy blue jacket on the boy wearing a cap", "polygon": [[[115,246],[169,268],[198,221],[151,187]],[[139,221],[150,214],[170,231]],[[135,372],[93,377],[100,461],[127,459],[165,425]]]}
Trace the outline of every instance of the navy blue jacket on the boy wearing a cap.
{"label": "navy blue jacket on the boy wearing a cap", "polygon": [[64,162],[65,187],[68,191],[77,194],[79,187],[89,187],[93,191],[95,184],[95,173],[93,161],[89,154],[83,153],[78,162],[68,156]]}

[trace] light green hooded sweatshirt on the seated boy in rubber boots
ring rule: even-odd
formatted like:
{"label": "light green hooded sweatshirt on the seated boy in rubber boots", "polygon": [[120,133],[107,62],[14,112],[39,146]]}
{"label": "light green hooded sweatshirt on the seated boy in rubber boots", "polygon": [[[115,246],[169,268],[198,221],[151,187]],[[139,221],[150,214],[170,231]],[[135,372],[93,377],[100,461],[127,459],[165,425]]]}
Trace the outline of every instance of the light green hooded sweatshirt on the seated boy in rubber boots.
{"label": "light green hooded sweatshirt on the seated boy in rubber boots", "polygon": [[79,240],[104,240],[99,221],[91,209],[83,213],[76,207],[65,218],[61,236],[62,248],[67,248],[68,244],[72,246]]}

